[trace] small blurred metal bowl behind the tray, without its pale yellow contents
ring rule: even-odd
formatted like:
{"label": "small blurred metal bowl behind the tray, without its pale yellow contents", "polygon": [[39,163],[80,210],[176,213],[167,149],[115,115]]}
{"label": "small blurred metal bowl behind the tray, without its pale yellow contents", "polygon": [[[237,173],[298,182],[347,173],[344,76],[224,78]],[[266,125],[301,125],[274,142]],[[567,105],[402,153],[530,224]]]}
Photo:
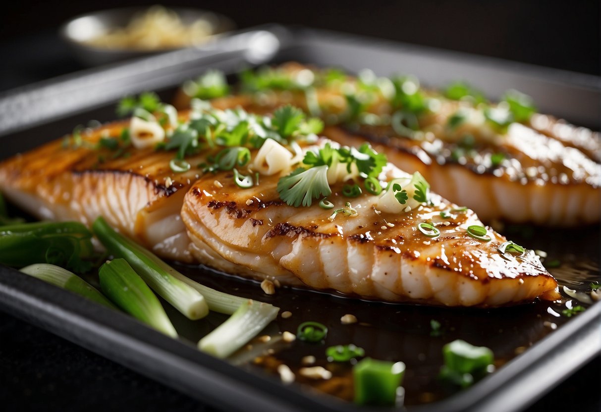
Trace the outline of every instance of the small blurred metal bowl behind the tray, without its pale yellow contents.
{"label": "small blurred metal bowl behind the tray, without its pale yellow contents", "polygon": [[[87,66],[107,64],[168,52],[178,48],[192,47],[137,50],[97,47],[87,43],[87,41],[105,34],[110,29],[127,26],[136,14],[144,13],[146,10],[148,10],[148,7],[125,7],[82,14],[65,23],[60,29],[60,34],[63,40],[69,44],[76,58]],[[169,11],[174,11],[180,17],[180,20],[182,20],[183,25],[190,25],[198,19],[206,20],[212,26],[210,37],[224,35],[235,27],[234,23],[228,17],[210,11],[182,7],[169,7]]]}

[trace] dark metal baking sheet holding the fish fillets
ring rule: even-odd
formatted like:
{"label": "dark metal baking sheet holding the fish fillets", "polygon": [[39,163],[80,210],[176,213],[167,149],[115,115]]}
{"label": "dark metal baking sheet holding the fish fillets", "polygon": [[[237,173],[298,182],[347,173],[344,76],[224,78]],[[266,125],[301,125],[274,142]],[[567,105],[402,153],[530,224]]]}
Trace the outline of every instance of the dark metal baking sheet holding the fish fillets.
{"label": "dark metal baking sheet holding the fish fillets", "polygon": [[[492,97],[500,95],[505,88],[515,87],[540,102],[543,112],[588,126],[599,124],[601,86],[595,76],[329,32],[263,26],[221,39],[205,49],[183,50],[88,70],[7,92],[0,96],[3,148],[0,157],[55,139],[69,133],[76,124],[85,124],[91,119],[112,120],[114,102],[124,94],[154,89],[159,90],[164,98],[169,98],[183,80],[207,68],[235,73],[244,65],[248,67],[290,59],[319,66],[335,65],[350,71],[369,67],[381,75],[414,73],[431,86],[441,86],[451,79],[469,79]],[[558,242],[570,235],[540,228],[537,236],[528,237],[522,233],[523,228],[510,229],[516,231],[512,235],[516,240],[520,236],[525,237],[523,244],[532,248],[544,247],[555,256],[564,253]],[[568,249],[574,261],[590,258],[598,267],[598,228],[593,228],[592,234]],[[259,295],[257,283],[248,280],[224,277],[204,268],[179,269],[209,286],[229,291],[236,289],[240,295],[269,300],[282,307],[282,311],[297,313],[299,307],[314,311],[313,314],[303,311],[302,320],[325,323],[338,320],[340,323],[341,314],[350,311],[360,320],[373,318],[369,326],[353,326],[348,331],[334,330],[328,343],[349,343],[343,340],[353,339],[368,353],[380,351],[389,356],[395,354],[395,345],[401,347],[396,352],[400,356],[397,360],[407,363],[408,372],[413,371],[413,375],[407,374],[404,383],[409,410],[519,410],[592,359],[601,348],[601,303],[594,304],[551,332],[543,326],[542,319],[548,316],[544,304],[487,311],[441,309],[368,303],[293,289],[281,289],[273,297],[266,297]],[[593,271],[587,276],[599,279],[598,272]],[[319,304],[311,306],[314,301],[319,301]],[[259,368],[233,366],[200,353],[191,342],[198,339],[199,334],[206,333],[200,326],[202,323],[177,319],[177,314],[169,313],[175,317],[176,327],[184,331],[182,335],[190,343],[166,338],[125,315],[97,307],[78,296],[4,267],[0,267],[0,307],[226,410],[370,410],[301,386],[283,386],[275,375],[266,374]],[[321,311],[319,308],[322,308]],[[207,322],[216,324],[222,321],[224,318],[219,316],[212,315]],[[450,329],[444,338],[429,336],[427,325],[432,318],[443,320],[445,327]],[[294,317],[288,321],[278,318],[273,327],[293,330],[300,321]],[[468,390],[416,405],[419,402],[411,398],[416,388],[434,384],[432,379],[422,377],[419,371],[432,374],[432,369],[441,365],[442,344],[462,336],[469,336],[472,343],[489,345],[496,355],[502,354],[501,357],[508,362],[499,365],[498,371]],[[525,350],[516,355],[516,347]],[[427,362],[419,360],[421,355],[427,355]]]}

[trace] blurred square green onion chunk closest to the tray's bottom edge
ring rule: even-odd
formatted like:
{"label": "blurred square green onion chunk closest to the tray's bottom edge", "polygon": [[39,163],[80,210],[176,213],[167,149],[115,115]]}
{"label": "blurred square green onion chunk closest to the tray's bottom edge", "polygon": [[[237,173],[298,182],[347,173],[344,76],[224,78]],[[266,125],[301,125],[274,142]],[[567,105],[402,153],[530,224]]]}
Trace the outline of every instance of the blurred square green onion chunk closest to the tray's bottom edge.
{"label": "blurred square green onion chunk closest to the tray's bottom edge", "polygon": [[397,389],[403,383],[405,364],[366,357],[353,366],[355,403],[359,405],[394,405]]}

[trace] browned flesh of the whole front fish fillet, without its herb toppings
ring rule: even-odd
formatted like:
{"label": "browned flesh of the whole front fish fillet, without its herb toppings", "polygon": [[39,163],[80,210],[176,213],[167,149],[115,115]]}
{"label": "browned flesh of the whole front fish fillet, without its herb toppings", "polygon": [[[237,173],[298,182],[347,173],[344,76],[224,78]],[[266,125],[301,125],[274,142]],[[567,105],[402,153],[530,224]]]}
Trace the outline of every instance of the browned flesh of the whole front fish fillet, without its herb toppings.
{"label": "browned flesh of the whole front fish fillet, without its herb toppings", "polygon": [[[0,190],[42,219],[75,219],[90,225],[97,216],[150,247],[158,255],[202,263],[254,279],[334,290],[357,297],[446,306],[499,306],[558,297],[557,282],[534,253],[520,258],[498,252],[506,239],[487,228],[484,242],[466,232],[480,225],[471,210],[432,194],[430,203],[409,213],[377,210],[378,195],[350,199],[354,215],[281,201],[278,178],[261,176],[240,189],[231,171],[174,173],[173,154],[152,148],[111,159],[95,145],[119,136],[124,123],[85,136],[88,145],[64,148],[50,142],[0,163]],[[323,145],[322,141],[322,145]],[[252,151],[255,157],[257,151]],[[102,162],[99,162],[99,154]],[[189,157],[191,165],[210,152]],[[379,178],[406,176],[388,164]],[[330,199],[345,208],[341,183]],[[347,209],[348,210],[348,209]],[[432,222],[438,238],[424,236],[418,223]]]}

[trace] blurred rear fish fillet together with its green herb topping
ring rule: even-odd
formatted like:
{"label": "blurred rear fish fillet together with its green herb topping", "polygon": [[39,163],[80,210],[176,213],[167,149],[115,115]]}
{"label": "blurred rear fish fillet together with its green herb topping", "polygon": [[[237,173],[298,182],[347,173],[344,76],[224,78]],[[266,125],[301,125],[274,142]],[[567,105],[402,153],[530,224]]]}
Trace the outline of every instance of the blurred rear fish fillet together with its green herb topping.
{"label": "blurred rear fish fillet together with its green herb topping", "polygon": [[[370,142],[394,165],[420,172],[435,192],[486,222],[599,222],[599,133],[536,113],[520,92],[508,91],[493,104],[465,83],[439,92],[412,76],[377,77],[366,70],[351,77],[295,63],[243,73],[241,80],[239,94],[213,104],[252,112],[290,103],[304,108],[329,125],[323,135],[343,145]],[[184,91],[215,97],[206,93],[219,81],[212,72]],[[182,92],[177,105],[188,103]]]}

